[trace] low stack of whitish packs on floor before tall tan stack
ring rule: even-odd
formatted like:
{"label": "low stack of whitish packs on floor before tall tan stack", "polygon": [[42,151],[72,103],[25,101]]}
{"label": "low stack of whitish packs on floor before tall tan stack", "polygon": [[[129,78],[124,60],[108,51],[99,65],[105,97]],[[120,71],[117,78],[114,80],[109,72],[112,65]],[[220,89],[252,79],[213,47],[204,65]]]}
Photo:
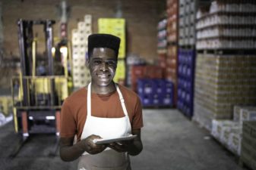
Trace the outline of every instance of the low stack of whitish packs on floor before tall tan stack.
{"label": "low stack of whitish packs on floor before tall tan stack", "polygon": [[216,120],[213,119],[211,134],[223,146],[240,156],[242,152],[242,141],[246,141],[245,126],[248,122],[256,121],[256,107],[235,106],[233,119]]}

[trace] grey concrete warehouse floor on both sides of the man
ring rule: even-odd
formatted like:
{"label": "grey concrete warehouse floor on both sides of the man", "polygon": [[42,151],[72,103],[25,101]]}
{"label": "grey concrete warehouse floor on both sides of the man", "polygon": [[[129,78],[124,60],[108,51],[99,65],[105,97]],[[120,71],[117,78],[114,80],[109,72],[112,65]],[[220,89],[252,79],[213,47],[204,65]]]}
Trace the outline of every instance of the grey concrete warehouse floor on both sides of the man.
{"label": "grey concrete warehouse floor on both sides of the man", "polygon": [[[34,135],[14,158],[19,136],[12,123],[0,128],[0,170],[71,170],[77,161],[52,156],[55,135]],[[240,170],[237,159],[178,110],[144,110],[144,150],[131,156],[133,170]],[[57,152],[58,153],[58,152]]]}

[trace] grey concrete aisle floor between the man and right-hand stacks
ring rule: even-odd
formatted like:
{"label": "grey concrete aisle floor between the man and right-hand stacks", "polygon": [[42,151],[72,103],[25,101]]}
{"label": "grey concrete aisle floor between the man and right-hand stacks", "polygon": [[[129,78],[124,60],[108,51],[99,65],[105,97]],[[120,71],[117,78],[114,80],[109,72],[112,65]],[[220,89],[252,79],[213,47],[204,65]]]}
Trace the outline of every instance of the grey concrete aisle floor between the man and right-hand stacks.
{"label": "grey concrete aisle floor between the man and right-hand stacks", "polygon": [[239,170],[235,157],[177,110],[144,110],[144,150],[136,170]]}

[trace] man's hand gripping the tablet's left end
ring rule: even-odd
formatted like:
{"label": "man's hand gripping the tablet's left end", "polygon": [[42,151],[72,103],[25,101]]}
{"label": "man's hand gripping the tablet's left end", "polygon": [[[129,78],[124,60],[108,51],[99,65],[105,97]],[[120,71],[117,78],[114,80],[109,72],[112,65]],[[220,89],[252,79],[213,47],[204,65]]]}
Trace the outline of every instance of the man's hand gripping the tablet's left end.
{"label": "man's hand gripping the tablet's left end", "polygon": [[89,137],[87,137],[81,141],[83,143],[84,150],[86,150],[87,153],[90,153],[90,154],[96,154],[96,153],[103,152],[103,150],[106,149],[106,145],[105,144],[94,144],[93,143],[94,139],[101,139],[101,138],[100,138],[100,136],[92,134]]}

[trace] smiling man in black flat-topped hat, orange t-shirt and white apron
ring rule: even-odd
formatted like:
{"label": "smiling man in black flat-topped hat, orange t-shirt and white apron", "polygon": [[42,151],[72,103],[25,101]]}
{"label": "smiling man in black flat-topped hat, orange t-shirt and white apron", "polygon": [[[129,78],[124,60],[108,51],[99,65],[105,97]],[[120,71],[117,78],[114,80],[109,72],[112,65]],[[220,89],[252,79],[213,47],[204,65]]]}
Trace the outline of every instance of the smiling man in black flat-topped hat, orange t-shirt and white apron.
{"label": "smiling man in black flat-topped hat, orange t-shirt and white apron", "polygon": [[[137,94],[113,82],[120,39],[108,34],[88,37],[87,66],[92,77],[86,88],[66,98],[61,113],[60,156],[79,158],[78,169],[131,169],[129,155],[141,153],[143,127]],[[95,139],[136,134],[131,141],[94,144]],[[74,136],[77,142],[74,144]]]}

